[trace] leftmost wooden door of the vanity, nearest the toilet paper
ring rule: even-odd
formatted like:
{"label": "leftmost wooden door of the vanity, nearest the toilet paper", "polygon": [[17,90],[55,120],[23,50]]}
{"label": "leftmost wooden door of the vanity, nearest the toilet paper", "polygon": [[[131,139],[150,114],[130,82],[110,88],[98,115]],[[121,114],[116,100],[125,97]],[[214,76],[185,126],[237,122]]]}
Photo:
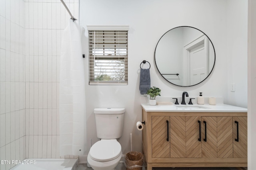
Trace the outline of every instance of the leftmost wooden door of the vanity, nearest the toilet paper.
{"label": "leftmost wooden door of the vanity, nearest the toilet paper", "polygon": [[152,116],[152,158],[170,158],[166,120],[170,123],[170,116]]}

